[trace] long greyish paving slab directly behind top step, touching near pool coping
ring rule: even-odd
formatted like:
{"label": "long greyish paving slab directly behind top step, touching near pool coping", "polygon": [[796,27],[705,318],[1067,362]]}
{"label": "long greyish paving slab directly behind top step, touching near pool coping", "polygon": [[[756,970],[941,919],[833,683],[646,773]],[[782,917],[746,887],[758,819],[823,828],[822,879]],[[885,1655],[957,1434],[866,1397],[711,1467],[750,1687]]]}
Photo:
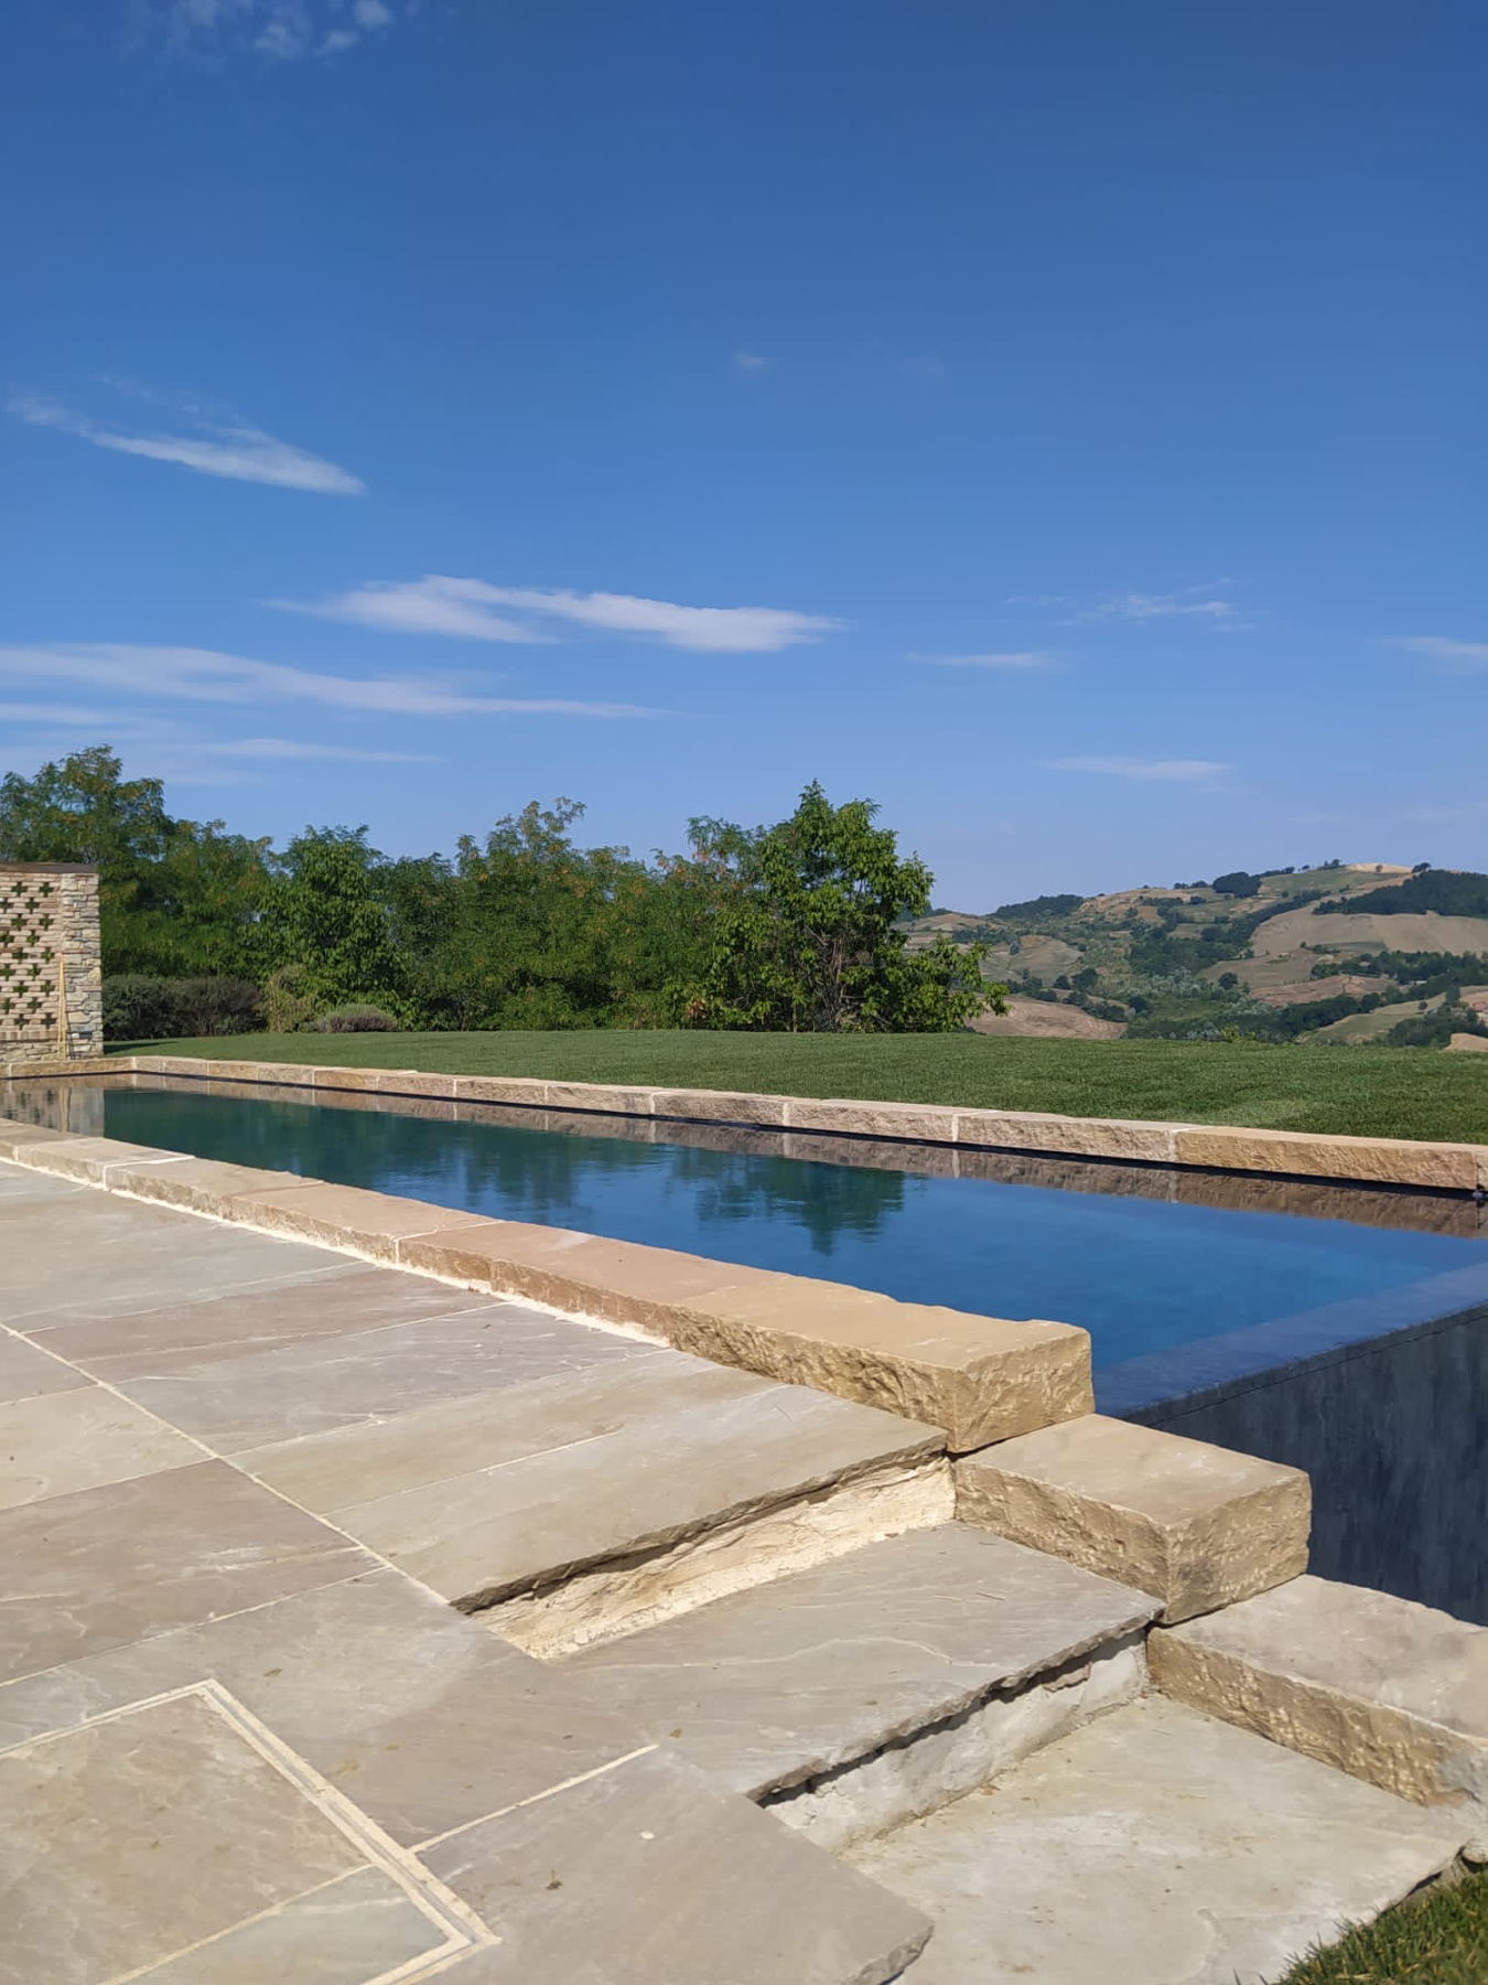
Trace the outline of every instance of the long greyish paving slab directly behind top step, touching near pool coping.
{"label": "long greyish paving slab directly behind top step, touching near pool coping", "polygon": [[[286,1292],[286,1304],[313,1302]],[[512,1302],[454,1316],[343,1330],[246,1358],[179,1364],[119,1390],[218,1453],[349,1427],[440,1399],[500,1391],[559,1372],[619,1362],[649,1346]]]}

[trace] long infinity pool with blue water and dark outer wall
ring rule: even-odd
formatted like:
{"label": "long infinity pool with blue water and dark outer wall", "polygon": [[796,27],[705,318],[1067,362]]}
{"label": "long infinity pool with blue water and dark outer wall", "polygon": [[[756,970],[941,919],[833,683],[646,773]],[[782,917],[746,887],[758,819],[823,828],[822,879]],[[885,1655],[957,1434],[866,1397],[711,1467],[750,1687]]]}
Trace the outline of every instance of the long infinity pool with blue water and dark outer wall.
{"label": "long infinity pool with blue water and dark outer wall", "polygon": [[1091,1332],[1097,1405],[1313,1477],[1313,1570],[1488,1624],[1464,1195],[117,1076],[0,1116]]}

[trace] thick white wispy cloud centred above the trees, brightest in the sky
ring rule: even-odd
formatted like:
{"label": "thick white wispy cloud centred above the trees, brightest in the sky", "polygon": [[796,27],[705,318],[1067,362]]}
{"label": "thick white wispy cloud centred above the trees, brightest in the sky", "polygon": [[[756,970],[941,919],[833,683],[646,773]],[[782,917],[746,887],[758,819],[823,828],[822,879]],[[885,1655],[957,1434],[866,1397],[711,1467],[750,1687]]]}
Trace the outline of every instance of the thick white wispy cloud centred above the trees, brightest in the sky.
{"label": "thick white wispy cloud centred above the trees, brightest in the sky", "polygon": [[593,633],[649,635],[665,647],[714,655],[776,653],[802,641],[819,641],[843,625],[821,613],[794,613],[786,607],[684,607],[671,599],[637,599],[633,594],[486,586],[484,580],[440,574],[359,586],[325,599],[268,603],[361,627],[464,635],[476,641],[548,641],[552,635],[542,623],[565,621]]}

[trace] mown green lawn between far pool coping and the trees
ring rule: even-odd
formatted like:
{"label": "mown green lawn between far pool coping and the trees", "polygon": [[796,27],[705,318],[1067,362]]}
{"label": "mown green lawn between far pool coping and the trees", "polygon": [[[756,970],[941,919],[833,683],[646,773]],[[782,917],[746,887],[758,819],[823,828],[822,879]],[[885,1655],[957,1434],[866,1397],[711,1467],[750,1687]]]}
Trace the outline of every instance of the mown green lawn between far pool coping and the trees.
{"label": "mown green lawn between far pool coping and the trees", "polygon": [[[1488,1143],[1488,1054],[982,1034],[234,1034],[135,1052]],[[121,1046],[119,1052],[131,1052]]]}

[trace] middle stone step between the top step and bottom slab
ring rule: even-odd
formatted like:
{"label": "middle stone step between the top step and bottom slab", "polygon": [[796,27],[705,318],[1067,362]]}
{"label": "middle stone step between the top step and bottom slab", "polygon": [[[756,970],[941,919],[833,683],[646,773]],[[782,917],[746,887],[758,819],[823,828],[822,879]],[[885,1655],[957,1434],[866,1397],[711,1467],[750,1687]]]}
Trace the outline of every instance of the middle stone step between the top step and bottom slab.
{"label": "middle stone step between the top step and bottom slab", "polygon": [[946,1522],[718,1598],[563,1671],[821,1846],[929,1812],[1145,1683],[1157,1604]]}

